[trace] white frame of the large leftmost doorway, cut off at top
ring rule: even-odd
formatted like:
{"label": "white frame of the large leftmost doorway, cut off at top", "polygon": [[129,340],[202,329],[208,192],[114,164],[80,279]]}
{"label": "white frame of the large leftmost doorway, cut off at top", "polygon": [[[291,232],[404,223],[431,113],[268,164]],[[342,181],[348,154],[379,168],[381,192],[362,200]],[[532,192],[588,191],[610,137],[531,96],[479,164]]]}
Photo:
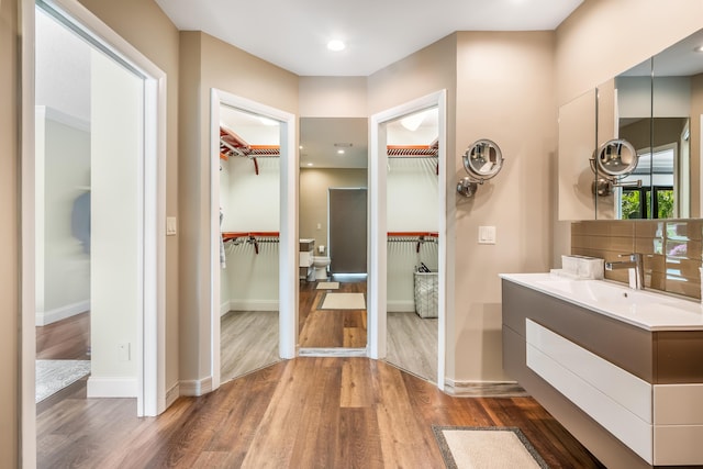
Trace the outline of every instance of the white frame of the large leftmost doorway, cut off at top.
{"label": "white frame of the large leftmost doorway, cut off at top", "polygon": [[[77,0],[44,0],[144,76],[143,311],[137,327],[137,415],[166,409],[166,74]],[[21,458],[36,466],[35,392],[35,1],[21,0]]]}

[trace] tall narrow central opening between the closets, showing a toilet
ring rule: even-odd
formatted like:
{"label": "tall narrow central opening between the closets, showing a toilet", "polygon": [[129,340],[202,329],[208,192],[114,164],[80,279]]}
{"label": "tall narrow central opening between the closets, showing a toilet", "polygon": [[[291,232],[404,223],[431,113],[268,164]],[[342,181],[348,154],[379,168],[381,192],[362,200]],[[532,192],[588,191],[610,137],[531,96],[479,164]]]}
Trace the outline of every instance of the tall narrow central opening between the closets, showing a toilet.
{"label": "tall narrow central opening between the closets, showing a toilet", "polygon": [[300,355],[367,356],[368,119],[300,126]]}

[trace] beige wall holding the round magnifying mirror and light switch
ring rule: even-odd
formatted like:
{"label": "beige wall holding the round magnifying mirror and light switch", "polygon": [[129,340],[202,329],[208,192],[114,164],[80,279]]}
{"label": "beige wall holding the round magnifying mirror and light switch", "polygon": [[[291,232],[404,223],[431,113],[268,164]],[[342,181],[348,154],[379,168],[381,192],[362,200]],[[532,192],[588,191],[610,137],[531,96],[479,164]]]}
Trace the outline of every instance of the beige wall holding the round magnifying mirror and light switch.
{"label": "beige wall holding the round magnifying mirror and light switch", "polygon": [[[449,317],[447,371],[459,381],[504,380],[500,272],[545,271],[550,264],[557,146],[554,32],[457,36],[456,148],[478,138],[498,143],[503,170],[456,206],[456,286]],[[460,158],[449,155],[456,178]],[[477,243],[478,227],[496,227],[495,245]]]}

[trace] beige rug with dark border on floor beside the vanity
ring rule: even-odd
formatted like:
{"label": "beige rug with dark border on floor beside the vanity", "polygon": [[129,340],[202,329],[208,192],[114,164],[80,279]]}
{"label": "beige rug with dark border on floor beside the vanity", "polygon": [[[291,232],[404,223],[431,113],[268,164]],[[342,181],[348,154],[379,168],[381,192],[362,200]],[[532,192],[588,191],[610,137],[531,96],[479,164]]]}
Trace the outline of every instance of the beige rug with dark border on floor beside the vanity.
{"label": "beige rug with dark border on floor beside the vanity", "polygon": [[548,468],[517,427],[432,426],[449,469]]}

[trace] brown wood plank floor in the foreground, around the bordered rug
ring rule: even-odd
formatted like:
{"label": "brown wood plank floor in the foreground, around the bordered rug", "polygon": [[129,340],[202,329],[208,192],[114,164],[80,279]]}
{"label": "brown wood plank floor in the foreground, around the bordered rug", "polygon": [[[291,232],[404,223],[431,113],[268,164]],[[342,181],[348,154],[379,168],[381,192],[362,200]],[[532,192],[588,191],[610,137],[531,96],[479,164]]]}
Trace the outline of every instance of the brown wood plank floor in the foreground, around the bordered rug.
{"label": "brown wood plank floor in the foreground, around the bordered rug", "polygon": [[553,468],[602,467],[531,398],[454,398],[367,358],[297,358],[158,417],[85,391],[37,416],[40,468],[442,468],[432,425],[517,426]]}

